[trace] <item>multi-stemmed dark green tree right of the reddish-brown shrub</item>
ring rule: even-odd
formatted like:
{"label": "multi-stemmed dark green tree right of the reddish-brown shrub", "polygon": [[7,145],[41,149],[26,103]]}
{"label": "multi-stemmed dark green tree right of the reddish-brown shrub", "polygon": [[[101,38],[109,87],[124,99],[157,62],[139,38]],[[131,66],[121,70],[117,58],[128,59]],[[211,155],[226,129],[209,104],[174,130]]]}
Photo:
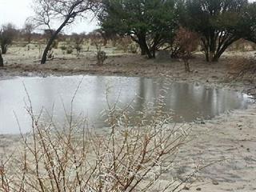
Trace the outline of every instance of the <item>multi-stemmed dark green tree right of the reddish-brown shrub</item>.
{"label": "multi-stemmed dark green tree right of the reddish-brown shrub", "polygon": [[202,36],[207,62],[217,62],[241,38],[242,10],[247,0],[186,0],[185,26]]}

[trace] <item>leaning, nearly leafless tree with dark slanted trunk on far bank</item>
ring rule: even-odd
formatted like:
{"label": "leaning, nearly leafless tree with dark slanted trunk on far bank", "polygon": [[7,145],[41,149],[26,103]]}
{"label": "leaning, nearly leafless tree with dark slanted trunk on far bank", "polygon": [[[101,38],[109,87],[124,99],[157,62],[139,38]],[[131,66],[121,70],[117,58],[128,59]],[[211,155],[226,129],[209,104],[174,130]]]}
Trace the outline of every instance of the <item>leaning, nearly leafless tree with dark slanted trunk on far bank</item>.
{"label": "leaning, nearly leafless tree with dark slanted trunk on far bank", "polygon": [[[46,26],[51,31],[42,54],[41,64],[46,63],[48,51],[62,29],[74,23],[76,18],[84,17],[86,11],[94,10],[97,2],[97,0],[34,0],[34,22],[37,26]],[[52,30],[56,22],[60,25],[57,30]]]}

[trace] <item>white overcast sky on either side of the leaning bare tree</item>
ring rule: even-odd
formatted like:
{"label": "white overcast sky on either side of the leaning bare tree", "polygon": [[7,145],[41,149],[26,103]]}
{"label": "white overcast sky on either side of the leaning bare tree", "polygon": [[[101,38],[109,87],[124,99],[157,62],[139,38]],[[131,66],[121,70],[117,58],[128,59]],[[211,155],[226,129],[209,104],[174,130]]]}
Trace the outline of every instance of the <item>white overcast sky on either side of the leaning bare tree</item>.
{"label": "white overcast sky on either side of the leaning bare tree", "polygon": [[[24,26],[26,18],[34,14],[32,8],[32,0],[0,0],[0,26],[8,22],[13,23],[17,28]],[[68,26],[65,29],[67,34],[72,32],[82,33],[90,32],[97,28],[96,21],[78,20],[76,25]]]}

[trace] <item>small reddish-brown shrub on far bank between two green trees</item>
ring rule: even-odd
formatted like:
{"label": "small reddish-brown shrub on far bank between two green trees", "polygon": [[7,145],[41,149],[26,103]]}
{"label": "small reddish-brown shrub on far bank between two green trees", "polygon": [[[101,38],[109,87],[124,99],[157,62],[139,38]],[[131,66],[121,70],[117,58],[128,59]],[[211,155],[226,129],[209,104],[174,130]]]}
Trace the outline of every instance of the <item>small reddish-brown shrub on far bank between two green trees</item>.
{"label": "small reddish-brown shrub on far bank between two green trees", "polygon": [[198,35],[180,27],[176,34],[174,44],[178,47],[178,57],[182,58],[185,71],[190,72],[189,60],[192,58],[193,51],[198,48]]}

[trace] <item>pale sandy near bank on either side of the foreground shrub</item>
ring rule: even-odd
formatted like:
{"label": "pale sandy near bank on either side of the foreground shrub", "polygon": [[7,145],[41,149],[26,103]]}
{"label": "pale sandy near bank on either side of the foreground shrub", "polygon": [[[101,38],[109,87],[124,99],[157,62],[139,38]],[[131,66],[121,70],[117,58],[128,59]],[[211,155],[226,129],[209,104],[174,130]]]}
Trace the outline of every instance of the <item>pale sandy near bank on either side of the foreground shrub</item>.
{"label": "pale sandy near bank on either side of the foreground shrub", "polygon": [[[186,190],[205,192],[256,190],[256,105],[247,110],[234,110],[214,119],[190,123],[192,141],[182,146],[176,161],[177,175],[165,172],[161,182],[168,183],[174,177],[190,173],[191,167],[207,166],[190,180]],[[18,135],[0,136],[0,153],[17,153]],[[218,162],[220,161],[220,162]],[[184,179],[184,177],[183,177]]]}

